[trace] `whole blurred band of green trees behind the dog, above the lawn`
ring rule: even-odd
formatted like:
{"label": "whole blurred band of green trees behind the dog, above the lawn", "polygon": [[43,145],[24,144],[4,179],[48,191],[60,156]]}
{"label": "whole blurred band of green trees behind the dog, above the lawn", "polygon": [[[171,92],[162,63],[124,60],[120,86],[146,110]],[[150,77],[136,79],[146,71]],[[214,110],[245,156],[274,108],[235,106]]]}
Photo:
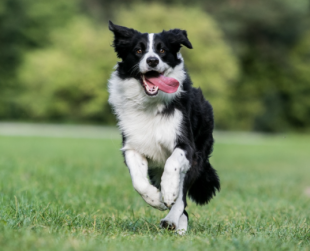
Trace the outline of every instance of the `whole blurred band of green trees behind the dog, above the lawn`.
{"label": "whole blurred band of green trees behind the dog, above the lawn", "polygon": [[182,54],[217,129],[309,131],[308,0],[2,0],[0,120],[115,124],[109,19],[188,31]]}

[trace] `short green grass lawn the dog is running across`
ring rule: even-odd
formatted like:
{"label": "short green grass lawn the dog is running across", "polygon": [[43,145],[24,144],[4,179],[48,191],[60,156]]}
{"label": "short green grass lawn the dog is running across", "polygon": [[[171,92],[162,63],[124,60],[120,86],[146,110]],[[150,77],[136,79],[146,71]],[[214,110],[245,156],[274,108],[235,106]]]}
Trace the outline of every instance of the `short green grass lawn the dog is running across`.
{"label": "short green grass lawn the dog is running across", "polygon": [[134,191],[119,139],[0,137],[1,250],[310,250],[309,136],[218,134],[222,190],[190,229]]}

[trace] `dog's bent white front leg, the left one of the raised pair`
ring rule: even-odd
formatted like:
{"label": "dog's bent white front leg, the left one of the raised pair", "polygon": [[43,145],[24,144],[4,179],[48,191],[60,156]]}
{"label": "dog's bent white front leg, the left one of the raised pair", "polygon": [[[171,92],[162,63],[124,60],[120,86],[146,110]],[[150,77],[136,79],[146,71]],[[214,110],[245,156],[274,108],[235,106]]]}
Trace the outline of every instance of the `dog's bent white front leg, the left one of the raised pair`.
{"label": "dog's bent white front leg, the left one of the raised pair", "polygon": [[142,196],[146,203],[159,210],[166,210],[167,207],[161,201],[161,192],[152,186],[147,178],[148,163],[145,157],[135,150],[125,151],[125,160],[129,168],[132,185]]}

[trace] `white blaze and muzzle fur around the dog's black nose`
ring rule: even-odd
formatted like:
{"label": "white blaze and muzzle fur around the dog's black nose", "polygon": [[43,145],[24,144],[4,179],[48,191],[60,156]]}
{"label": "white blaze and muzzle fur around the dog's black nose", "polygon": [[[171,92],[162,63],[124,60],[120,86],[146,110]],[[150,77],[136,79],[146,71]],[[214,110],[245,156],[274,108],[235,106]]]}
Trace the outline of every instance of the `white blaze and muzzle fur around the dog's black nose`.
{"label": "white blaze and muzzle fur around the dog's black nose", "polygon": [[[168,67],[168,65],[166,63],[164,63],[161,60],[160,56],[155,52],[154,37],[155,37],[154,33],[148,34],[148,44],[147,44],[146,53],[139,63],[141,73],[146,73],[146,72],[151,71],[151,70],[158,71],[158,72],[162,73]],[[156,57],[159,60],[159,63],[156,67],[152,68],[147,64],[146,61],[149,57]]]}

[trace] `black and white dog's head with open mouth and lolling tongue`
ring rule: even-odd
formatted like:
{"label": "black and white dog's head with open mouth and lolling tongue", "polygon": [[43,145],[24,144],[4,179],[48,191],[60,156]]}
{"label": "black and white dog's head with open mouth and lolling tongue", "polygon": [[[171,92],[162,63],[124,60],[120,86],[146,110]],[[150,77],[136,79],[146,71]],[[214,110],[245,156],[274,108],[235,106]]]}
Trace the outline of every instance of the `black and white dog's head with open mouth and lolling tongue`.
{"label": "black and white dog's head with open mouth and lolling tongue", "polygon": [[111,21],[109,29],[114,33],[115,52],[122,59],[118,68],[122,78],[139,80],[148,96],[157,96],[159,91],[166,94],[180,91],[183,81],[180,72],[184,75],[184,71],[179,51],[182,45],[193,48],[185,30],[148,34]]}

